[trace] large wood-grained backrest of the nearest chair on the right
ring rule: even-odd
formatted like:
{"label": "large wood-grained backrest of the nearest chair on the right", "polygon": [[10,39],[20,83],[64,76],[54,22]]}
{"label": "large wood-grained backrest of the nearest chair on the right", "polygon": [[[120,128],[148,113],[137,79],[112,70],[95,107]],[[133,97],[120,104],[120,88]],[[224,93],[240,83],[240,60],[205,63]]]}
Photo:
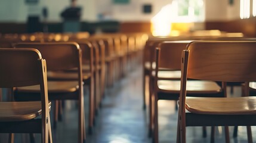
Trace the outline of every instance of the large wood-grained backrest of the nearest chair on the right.
{"label": "large wood-grained backrest of the nearest chair on the right", "polygon": [[256,41],[198,41],[187,45],[187,77],[221,82],[256,80]]}

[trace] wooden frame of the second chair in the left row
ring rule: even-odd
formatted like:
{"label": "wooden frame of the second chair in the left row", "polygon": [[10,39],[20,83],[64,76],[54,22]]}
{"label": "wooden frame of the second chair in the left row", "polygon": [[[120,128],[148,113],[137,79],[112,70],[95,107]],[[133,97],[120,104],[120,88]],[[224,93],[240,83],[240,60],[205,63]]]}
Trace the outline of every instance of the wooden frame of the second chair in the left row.
{"label": "wooden frame of the second chair in the left row", "polygon": [[[78,43],[75,42],[64,42],[64,43],[18,43],[16,48],[22,47],[35,47],[38,49],[42,56],[48,61],[48,70],[51,71],[59,71],[59,70],[67,70],[72,68],[77,68],[77,79],[76,85],[78,85],[78,89],[74,91],[53,91],[49,90],[49,98],[50,100],[77,100],[78,101],[78,142],[85,141],[85,114],[84,114],[84,89],[82,83],[82,51],[79,48]],[[58,52],[58,56],[52,56],[54,52]],[[54,82],[54,81],[53,81]],[[70,81],[72,82],[72,81]],[[48,82],[50,84],[51,82]],[[66,82],[58,82],[58,83],[67,83]],[[29,96],[26,100],[31,97],[36,97],[35,94],[38,92],[37,88],[31,90],[33,88],[29,88],[29,91],[34,96]],[[19,89],[15,91],[16,94],[22,95],[26,92],[21,92]],[[31,100],[31,99],[30,99]],[[35,99],[33,99],[35,100]]]}

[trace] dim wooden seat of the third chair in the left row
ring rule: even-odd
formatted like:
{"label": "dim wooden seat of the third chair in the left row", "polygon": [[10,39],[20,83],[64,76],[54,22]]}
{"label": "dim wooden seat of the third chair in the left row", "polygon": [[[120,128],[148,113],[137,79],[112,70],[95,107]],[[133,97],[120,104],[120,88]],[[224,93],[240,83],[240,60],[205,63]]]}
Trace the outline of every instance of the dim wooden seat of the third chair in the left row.
{"label": "dim wooden seat of the third chair in the left row", "polygon": [[[83,80],[88,80],[91,77],[90,72],[83,72],[82,73]],[[49,80],[78,80],[77,73],[70,73],[70,72],[55,72],[55,71],[48,71],[47,77]]]}

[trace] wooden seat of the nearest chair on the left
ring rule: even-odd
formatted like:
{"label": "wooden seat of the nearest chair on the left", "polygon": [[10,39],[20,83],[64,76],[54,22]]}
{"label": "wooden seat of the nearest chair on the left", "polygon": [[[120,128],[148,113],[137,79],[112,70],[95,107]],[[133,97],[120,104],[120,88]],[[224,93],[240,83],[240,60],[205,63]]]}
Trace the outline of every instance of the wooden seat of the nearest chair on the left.
{"label": "wooden seat of the nearest chair on the left", "polygon": [[[30,120],[42,113],[41,101],[0,102],[0,122]],[[49,102],[51,108],[51,102]]]}

